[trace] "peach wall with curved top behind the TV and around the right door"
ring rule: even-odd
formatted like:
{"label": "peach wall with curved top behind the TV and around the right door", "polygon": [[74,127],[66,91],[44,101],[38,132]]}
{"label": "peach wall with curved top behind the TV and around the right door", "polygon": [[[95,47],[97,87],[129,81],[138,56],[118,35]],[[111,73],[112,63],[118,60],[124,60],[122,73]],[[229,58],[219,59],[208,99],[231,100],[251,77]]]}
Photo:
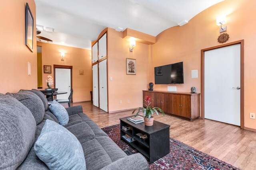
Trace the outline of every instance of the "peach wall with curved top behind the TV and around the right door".
{"label": "peach wall with curved top behind the TV and around the right door", "polygon": [[[249,118],[250,112],[256,112],[255,6],[255,0],[225,0],[204,10],[186,25],[160,33],[152,45],[150,79],[154,80],[155,66],[183,61],[184,84],[174,86],[180,92],[190,92],[190,87],[195,86],[200,92],[200,50],[220,45],[216,16],[224,14],[230,35],[227,43],[244,39],[244,121],[245,127],[256,129],[256,120]],[[191,78],[191,70],[198,70],[198,78]],[[167,90],[167,85],[155,85],[154,90]]]}

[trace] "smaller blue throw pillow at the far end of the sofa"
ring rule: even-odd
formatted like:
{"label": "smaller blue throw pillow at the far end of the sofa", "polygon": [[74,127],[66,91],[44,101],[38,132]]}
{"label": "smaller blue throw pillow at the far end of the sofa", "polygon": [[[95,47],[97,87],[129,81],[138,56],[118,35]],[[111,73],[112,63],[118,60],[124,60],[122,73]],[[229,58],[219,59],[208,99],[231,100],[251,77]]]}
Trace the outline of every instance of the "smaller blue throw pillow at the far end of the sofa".
{"label": "smaller blue throw pillow at the far end of the sofa", "polygon": [[50,111],[57,117],[60,125],[64,126],[68,124],[68,112],[61,104],[56,102],[56,100],[52,101],[51,106],[49,107]]}

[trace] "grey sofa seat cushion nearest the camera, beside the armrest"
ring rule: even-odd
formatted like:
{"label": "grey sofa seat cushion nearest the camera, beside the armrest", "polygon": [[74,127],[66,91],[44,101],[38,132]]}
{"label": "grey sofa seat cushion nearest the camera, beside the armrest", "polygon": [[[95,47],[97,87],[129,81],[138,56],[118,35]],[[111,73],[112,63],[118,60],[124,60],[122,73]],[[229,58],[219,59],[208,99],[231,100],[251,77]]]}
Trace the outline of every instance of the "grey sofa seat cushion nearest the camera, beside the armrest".
{"label": "grey sofa seat cushion nearest the camera, beside the armrest", "polygon": [[[109,137],[96,137],[82,144],[86,168],[99,170],[126,155]],[[100,160],[100,161],[99,161]]]}

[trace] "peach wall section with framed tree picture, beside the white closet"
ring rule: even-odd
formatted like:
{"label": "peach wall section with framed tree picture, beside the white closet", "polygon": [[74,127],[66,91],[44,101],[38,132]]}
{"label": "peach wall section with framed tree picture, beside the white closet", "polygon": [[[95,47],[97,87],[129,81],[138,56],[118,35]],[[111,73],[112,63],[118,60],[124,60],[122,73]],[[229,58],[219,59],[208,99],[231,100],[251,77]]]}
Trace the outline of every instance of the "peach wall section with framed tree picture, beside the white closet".
{"label": "peach wall section with framed tree picture, beside the white closet", "polygon": [[[130,52],[130,42],[123,33],[108,28],[108,97],[109,111],[142,106],[142,90],[148,86],[149,45],[136,42]],[[126,58],[136,59],[136,75],[126,75]],[[110,81],[110,76],[113,80]],[[122,104],[120,104],[122,100]],[[130,100],[130,103],[128,103]]]}

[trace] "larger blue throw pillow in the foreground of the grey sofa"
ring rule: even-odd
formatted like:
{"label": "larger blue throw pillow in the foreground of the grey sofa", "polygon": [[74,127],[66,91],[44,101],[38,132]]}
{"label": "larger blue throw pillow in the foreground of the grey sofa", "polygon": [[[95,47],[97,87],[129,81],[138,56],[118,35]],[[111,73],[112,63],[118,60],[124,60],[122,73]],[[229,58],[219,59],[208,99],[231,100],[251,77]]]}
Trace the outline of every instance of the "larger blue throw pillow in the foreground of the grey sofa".
{"label": "larger blue throw pillow in the foreground of the grey sofa", "polygon": [[46,120],[34,150],[50,170],[86,170],[82,145],[54,121]]}

